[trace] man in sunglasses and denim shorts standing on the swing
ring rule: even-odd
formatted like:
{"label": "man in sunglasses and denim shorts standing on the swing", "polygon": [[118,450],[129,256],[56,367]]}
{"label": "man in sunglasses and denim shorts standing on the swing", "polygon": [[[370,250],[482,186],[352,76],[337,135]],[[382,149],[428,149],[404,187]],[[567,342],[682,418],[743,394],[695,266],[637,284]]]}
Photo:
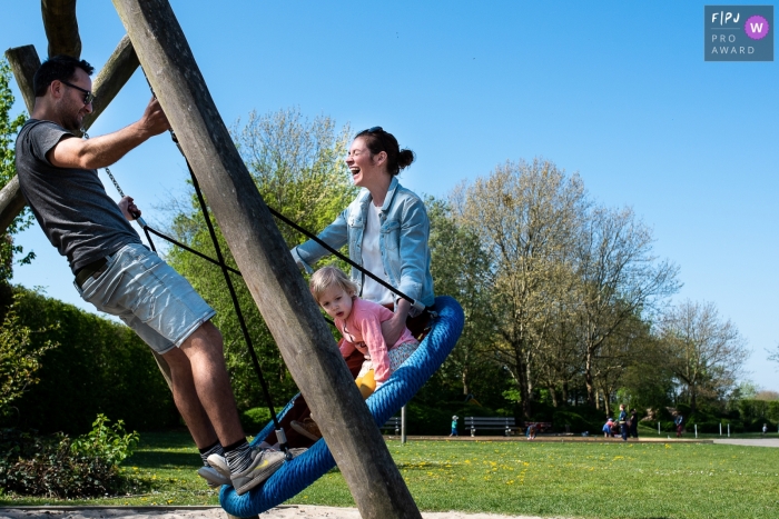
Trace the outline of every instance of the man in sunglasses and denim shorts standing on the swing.
{"label": "man in sunglasses and denim shorts standing on the swing", "polygon": [[[127,128],[76,138],[92,111],[92,71],[83,60],[58,56],[36,72],[32,117],[17,138],[21,190],[51,244],[68,258],[79,295],[118,316],[169,365],[174,401],[204,460],[198,473],[214,487],[231,483],[245,493],[276,471],[285,456],[249,447],[221,335],[210,322],[215,311],[141,243],[129,223],[140,216],[132,199],[117,206],[98,179],[98,168],[166,131],[168,120],[152,99]],[[226,458],[219,470],[207,461],[211,455]]]}

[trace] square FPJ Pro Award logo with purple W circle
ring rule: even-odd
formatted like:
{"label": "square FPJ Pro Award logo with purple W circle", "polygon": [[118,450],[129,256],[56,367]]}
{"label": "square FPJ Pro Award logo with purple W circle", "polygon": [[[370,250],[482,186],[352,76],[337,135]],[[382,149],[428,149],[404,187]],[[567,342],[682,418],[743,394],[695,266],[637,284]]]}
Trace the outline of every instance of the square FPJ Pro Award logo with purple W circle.
{"label": "square FPJ Pro Award logo with purple W circle", "polygon": [[773,6],[706,6],[706,61],[773,61]]}

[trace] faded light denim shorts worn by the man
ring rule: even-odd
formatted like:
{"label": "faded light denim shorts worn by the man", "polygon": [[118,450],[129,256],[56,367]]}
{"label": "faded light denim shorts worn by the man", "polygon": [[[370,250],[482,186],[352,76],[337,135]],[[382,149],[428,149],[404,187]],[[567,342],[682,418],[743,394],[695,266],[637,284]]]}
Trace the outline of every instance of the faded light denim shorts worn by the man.
{"label": "faded light denim shorts worn by the man", "polygon": [[108,257],[97,279],[73,286],[85,301],[119,317],[160,355],[181,346],[216,315],[189,281],[140,243]]}

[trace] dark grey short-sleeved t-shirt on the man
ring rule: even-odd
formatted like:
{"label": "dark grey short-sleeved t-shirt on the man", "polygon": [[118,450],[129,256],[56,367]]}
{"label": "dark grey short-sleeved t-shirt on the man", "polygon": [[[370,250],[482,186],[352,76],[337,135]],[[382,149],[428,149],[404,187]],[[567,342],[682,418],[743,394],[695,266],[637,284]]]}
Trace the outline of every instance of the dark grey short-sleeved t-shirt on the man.
{"label": "dark grey short-sleeved t-shirt on the man", "polygon": [[106,193],[95,169],[57,168],[47,153],[62,139],[76,138],[51,121],[30,119],[17,137],[17,174],[41,229],[76,273],[112,254],[138,233]]}

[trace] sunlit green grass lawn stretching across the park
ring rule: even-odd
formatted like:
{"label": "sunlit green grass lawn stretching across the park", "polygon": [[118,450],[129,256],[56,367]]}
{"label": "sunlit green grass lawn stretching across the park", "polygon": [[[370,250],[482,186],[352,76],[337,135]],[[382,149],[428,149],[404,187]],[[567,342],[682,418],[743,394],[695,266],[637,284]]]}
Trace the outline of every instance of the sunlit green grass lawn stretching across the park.
{"label": "sunlit green grass lawn stretching across the park", "polygon": [[[776,433],[772,435],[776,437]],[[146,433],[122,465],[154,490],[59,505],[216,505],[186,433]],[[779,449],[702,443],[388,442],[422,510],[598,518],[779,517]],[[290,502],[353,507],[333,470]],[[0,503],[52,500],[0,497]]]}

